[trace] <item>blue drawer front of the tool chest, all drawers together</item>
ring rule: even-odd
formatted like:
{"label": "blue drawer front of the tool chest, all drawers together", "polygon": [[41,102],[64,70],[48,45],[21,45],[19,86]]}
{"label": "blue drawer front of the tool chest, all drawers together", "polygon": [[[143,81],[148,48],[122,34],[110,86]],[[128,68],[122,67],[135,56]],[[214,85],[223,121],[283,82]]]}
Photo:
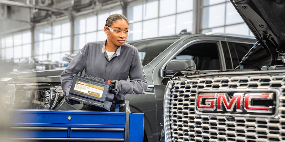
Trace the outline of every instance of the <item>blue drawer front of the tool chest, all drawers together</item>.
{"label": "blue drawer front of the tool chest, all drawers together", "polygon": [[9,111],[9,121],[10,138],[15,139],[111,138],[116,141],[124,140],[126,122],[124,112],[16,109]]}

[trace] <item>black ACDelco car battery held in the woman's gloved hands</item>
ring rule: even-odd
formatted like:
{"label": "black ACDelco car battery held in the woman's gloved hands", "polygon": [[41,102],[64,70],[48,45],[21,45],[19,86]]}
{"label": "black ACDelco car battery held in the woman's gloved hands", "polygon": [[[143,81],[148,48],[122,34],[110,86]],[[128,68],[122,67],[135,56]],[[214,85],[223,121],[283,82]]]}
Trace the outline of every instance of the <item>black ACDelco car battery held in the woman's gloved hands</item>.
{"label": "black ACDelco car battery held in the woman's gloved hands", "polygon": [[79,72],[73,75],[67,98],[110,111],[114,98],[114,94],[109,93],[110,87],[113,87],[110,80]]}

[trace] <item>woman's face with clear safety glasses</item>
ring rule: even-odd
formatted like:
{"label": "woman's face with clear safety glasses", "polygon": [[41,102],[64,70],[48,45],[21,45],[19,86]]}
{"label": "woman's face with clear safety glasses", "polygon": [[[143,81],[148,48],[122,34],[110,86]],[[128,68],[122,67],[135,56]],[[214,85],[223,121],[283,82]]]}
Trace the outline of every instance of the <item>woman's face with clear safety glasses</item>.
{"label": "woman's face with clear safety glasses", "polygon": [[[113,22],[113,24],[110,26],[110,28],[113,29],[113,32],[120,32],[121,31],[127,31],[129,30],[129,25],[125,20],[116,20]],[[110,41],[115,46],[123,46],[126,43],[126,40],[128,36],[125,36],[123,32],[121,32],[121,35],[114,35],[111,30],[109,30],[106,26],[104,27],[105,33],[107,34],[107,41]]]}

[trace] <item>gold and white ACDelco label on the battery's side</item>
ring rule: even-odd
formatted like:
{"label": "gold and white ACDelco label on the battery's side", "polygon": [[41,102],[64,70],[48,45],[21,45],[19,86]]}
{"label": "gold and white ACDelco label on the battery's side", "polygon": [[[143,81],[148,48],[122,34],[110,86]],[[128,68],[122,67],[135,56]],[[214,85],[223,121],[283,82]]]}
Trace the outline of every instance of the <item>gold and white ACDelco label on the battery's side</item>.
{"label": "gold and white ACDelco label on the battery's side", "polygon": [[104,87],[85,83],[82,81],[76,81],[73,91],[83,93],[86,95],[102,98]]}

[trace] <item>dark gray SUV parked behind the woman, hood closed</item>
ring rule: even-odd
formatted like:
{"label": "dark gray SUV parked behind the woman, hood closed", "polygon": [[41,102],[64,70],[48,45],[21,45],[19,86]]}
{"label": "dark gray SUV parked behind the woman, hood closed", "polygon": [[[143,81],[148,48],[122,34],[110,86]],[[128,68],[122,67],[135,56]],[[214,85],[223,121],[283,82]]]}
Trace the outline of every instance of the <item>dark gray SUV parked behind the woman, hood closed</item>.
{"label": "dark gray SUV parked behind the woman, hood closed", "polygon": [[[148,81],[140,95],[126,95],[131,112],[144,113],[144,141],[156,142],[162,130],[164,90],[172,75],[187,70],[233,70],[256,42],[255,38],[221,34],[189,34],[131,41],[137,47]],[[270,56],[257,47],[240,69],[261,68]],[[21,109],[75,109],[64,102],[62,70],[9,73],[1,78],[1,103]],[[107,78],[106,78],[107,79]],[[6,103],[5,103],[6,102]],[[10,105],[10,106],[9,106]]]}

